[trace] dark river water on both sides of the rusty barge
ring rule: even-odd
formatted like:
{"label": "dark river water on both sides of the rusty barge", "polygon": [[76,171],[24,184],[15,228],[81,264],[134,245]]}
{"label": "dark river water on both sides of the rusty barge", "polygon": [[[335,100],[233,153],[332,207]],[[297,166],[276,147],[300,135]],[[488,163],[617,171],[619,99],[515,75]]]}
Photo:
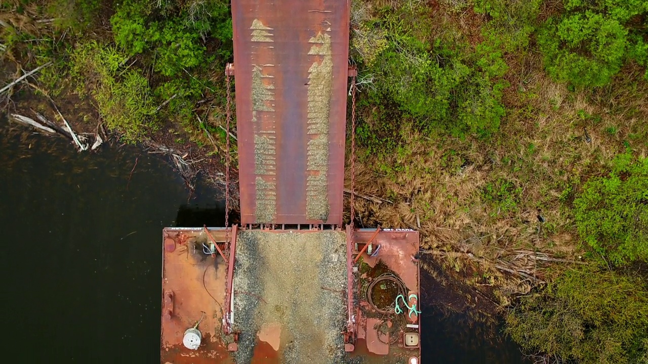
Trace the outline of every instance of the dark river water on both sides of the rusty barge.
{"label": "dark river water on both sides of the rusty barge", "polygon": [[[224,225],[217,191],[199,183],[190,199],[135,146],[79,154],[4,118],[0,170],[5,358],[159,363],[161,229]],[[526,363],[498,329],[422,308],[422,363]]]}

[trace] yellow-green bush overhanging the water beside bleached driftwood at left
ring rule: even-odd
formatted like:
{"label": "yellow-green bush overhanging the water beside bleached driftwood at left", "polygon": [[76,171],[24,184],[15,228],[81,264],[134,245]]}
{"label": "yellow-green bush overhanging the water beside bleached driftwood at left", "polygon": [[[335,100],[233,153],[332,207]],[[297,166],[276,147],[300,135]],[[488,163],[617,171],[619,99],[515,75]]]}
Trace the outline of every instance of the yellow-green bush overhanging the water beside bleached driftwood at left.
{"label": "yellow-green bush overhanging the water beside bleached driftwood at left", "polygon": [[148,81],[140,71],[124,69],[125,60],[114,47],[91,41],[76,47],[71,73],[78,93],[95,98],[108,128],[121,132],[124,141],[135,142],[155,130],[155,107]]}

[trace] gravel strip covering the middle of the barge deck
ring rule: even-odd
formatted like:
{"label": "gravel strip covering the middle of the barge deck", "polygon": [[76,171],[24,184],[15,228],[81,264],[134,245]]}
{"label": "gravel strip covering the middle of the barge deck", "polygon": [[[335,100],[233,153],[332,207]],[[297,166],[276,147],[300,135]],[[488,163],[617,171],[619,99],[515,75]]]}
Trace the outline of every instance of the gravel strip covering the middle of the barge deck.
{"label": "gravel strip covering the middle of the barge deck", "polygon": [[241,231],[234,272],[237,363],[250,363],[257,331],[281,324],[287,364],[344,360],[346,242],[341,231]]}

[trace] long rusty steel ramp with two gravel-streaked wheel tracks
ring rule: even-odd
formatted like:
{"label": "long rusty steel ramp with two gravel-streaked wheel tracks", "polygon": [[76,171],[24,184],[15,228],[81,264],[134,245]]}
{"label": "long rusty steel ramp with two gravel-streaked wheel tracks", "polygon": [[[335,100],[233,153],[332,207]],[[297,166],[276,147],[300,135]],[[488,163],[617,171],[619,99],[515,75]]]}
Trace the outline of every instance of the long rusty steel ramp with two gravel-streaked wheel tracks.
{"label": "long rusty steel ramp with two gravel-streaked wheel tracks", "polygon": [[342,223],[347,0],[232,3],[241,222]]}

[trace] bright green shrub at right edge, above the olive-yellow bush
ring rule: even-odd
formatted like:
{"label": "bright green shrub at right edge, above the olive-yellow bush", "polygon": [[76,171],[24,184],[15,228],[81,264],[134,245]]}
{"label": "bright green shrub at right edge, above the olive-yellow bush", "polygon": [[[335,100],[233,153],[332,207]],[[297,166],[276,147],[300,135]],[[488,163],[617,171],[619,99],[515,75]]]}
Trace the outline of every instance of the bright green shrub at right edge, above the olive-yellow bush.
{"label": "bright green shrub at right edge, above the olive-yellow bush", "polygon": [[593,177],[574,201],[583,240],[614,264],[648,260],[648,158],[619,155],[612,172]]}

